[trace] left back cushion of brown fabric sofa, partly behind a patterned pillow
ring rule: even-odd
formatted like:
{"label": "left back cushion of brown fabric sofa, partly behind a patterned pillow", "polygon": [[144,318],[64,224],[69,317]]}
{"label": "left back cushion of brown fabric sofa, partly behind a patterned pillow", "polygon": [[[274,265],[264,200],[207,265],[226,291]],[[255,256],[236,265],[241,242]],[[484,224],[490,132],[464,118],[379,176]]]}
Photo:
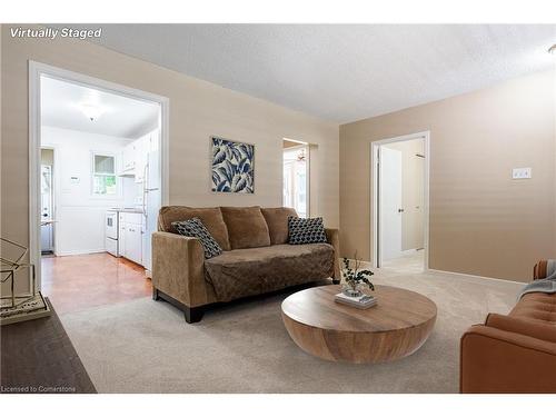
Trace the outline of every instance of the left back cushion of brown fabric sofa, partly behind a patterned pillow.
{"label": "left back cushion of brown fabric sofa, partly behind a patterned pillow", "polygon": [[230,250],[228,229],[224,222],[222,212],[219,207],[193,208],[186,206],[165,206],[158,215],[158,228],[160,231],[177,234],[172,226],[173,221],[183,221],[199,218],[210,235],[224,250]]}

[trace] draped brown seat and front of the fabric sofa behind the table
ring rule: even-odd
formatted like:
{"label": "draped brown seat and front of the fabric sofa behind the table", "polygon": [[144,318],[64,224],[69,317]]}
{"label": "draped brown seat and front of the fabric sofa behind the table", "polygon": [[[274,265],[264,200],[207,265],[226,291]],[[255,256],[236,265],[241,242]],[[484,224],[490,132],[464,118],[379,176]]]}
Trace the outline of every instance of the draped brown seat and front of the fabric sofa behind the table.
{"label": "draped brown seat and front of the fabric sofa behind the table", "polygon": [[274,245],[236,249],[205,260],[219,301],[265,294],[334,275],[334,247]]}

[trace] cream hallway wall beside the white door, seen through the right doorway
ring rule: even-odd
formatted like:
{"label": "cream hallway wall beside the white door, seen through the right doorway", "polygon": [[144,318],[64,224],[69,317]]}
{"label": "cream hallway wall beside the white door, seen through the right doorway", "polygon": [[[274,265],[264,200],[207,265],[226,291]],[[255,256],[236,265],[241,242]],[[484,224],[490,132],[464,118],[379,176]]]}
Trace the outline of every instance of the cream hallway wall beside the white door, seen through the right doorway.
{"label": "cream hallway wall beside the white door, seen through the right doorway", "polygon": [[423,248],[425,160],[416,153],[425,153],[425,140],[406,140],[385,147],[401,152],[401,250]]}

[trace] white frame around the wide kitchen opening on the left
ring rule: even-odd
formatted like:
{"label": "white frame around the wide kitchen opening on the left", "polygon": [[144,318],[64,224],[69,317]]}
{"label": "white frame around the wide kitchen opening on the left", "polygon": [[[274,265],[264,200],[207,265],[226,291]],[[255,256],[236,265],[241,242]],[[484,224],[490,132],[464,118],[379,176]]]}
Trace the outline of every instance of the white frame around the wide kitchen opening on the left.
{"label": "white frame around the wide kitchen opening on the left", "polygon": [[37,271],[37,289],[41,288],[40,255],[40,79],[48,76],[80,86],[92,87],[136,100],[160,105],[160,170],[162,205],[169,201],[169,116],[170,100],[167,97],[138,90],[115,82],[89,77],[79,72],[29,60],[29,257]]}

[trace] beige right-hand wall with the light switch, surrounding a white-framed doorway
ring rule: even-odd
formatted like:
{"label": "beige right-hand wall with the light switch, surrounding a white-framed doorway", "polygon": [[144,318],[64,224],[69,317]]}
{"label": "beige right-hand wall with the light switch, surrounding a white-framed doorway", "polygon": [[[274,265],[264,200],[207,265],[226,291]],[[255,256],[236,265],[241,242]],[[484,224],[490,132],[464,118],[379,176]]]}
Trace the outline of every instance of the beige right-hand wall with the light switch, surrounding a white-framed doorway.
{"label": "beige right-hand wall with the light switch, surrounding a white-framed doorway", "polygon": [[[370,142],[430,130],[429,268],[527,281],[556,256],[555,75],[340,127],[345,255],[370,258]],[[512,180],[515,167],[533,179]]]}

